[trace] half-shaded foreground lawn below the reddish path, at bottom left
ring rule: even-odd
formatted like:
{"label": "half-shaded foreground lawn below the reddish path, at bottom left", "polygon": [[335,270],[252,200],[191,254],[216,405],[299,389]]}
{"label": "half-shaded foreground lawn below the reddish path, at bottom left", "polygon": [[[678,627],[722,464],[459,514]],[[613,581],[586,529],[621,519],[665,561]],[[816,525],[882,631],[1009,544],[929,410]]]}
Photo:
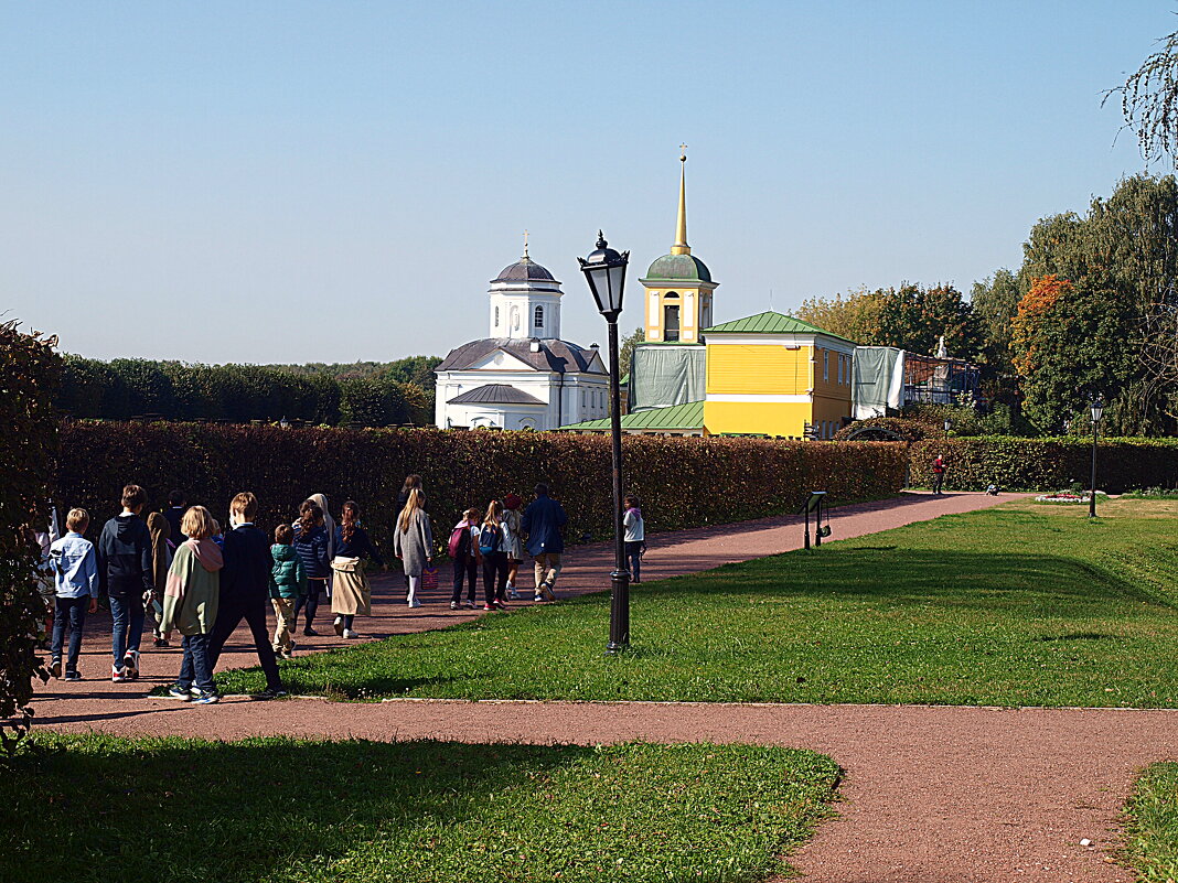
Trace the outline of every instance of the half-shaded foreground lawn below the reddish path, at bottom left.
{"label": "half-shaded foreground lawn below the reddish path, at bottom left", "polygon": [[0,879],[741,881],[838,781],[810,751],[38,733],[0,766]]}

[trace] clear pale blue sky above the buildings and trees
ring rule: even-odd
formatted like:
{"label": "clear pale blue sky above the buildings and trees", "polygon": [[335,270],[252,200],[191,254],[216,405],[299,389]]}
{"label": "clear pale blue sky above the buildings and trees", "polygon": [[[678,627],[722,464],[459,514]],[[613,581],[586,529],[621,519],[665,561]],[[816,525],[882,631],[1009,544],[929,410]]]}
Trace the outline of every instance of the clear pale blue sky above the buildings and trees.
{"label": "clear pale blue sky above the buildings and trees", "polygon": [[1100,99],[1174,9],[9,0],[0,312],[100,358],[444,354],[528,228],[563,336],[604,343],[575,258],[602,226],[640,290],[680,141],[719,320],[967,291],[1141,170]]}

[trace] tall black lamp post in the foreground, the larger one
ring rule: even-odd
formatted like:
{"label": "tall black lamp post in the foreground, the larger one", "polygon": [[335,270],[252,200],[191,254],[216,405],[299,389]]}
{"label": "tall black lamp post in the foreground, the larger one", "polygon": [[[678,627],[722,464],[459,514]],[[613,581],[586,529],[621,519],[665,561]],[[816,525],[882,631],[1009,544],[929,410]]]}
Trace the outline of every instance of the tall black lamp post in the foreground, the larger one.
{"label": "tall black lamp post in the foreground, the larger one", "polygon": [[617,379],[617,316],[622,312],[622,290],[626,287],[626,265],[629,252],[618,254],[608,247],[597,231],[597,250],[588,258],[577,258],[585,274],[589,291],[597,301],[597,310],[609,325],[609,434],[614,443],[614,547],[616,560],[610,577],[608,655],[620,653],[630,646],[630,571],[626,562],[622,530],[622,393]]}

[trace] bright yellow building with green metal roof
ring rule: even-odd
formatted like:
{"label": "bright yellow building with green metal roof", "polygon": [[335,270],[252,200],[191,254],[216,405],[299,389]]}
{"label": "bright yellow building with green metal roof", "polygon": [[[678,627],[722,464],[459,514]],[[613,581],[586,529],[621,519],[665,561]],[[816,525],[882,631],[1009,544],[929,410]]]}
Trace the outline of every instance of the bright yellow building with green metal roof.
{"label": "bright yellow building with green metal roof", "polygon": [[851,419],[855,345],[767,312],[703,331],[708,434],[830,438]]}

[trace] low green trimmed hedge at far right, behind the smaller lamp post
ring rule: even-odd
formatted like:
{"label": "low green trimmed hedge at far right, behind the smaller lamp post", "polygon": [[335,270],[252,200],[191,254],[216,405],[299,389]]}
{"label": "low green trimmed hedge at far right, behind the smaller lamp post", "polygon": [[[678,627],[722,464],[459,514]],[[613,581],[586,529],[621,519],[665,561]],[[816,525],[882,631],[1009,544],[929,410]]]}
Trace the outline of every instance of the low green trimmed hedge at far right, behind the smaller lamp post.
{"label": "low green trimmed hedge at far right, behind the smaller lamp post", "polygon": [[[954,491],[982,491],[991,482],[1025,491],[1058,491],[1074,482],[1087,487],[1092,467],[1091,439],[1013,436],[925,439],[908,446],[909,482],[914,486],[932,486],[932,464],[938,453],[945,454],[945,487]],[[1123,493],[1176,486],[1178,439],[1100,440],[1098,490]]]}

